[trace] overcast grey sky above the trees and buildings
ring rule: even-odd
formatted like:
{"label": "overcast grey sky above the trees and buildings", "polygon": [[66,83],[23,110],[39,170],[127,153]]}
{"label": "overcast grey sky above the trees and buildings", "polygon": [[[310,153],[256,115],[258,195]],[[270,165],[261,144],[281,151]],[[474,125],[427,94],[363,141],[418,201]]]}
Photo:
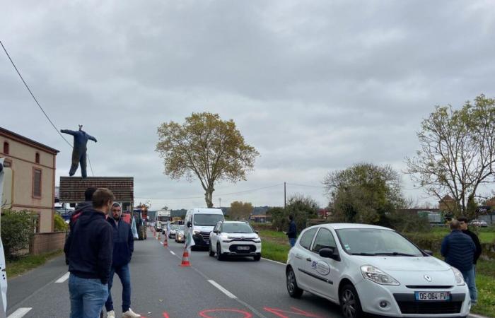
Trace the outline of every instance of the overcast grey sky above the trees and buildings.
{"label": "overcast grey sky above the trees and buildings", "polygon": [[[233,119],[261,154],[247,181],[216,185],[216,205],[283,206],[289,182],[288,195],[326,206],[327,172],[402,170],[435,105],[495,97],[490,0],[13,1],[0,40],[59,129],[83,124],[98,139],[95,175],[133,176],[152,209],[205,205],[199,182],[163,175],[154,151],[158,125],[192,112]],[[58,184],[71,148],[4,52],[0,108],[0,126],[59,149]]]}

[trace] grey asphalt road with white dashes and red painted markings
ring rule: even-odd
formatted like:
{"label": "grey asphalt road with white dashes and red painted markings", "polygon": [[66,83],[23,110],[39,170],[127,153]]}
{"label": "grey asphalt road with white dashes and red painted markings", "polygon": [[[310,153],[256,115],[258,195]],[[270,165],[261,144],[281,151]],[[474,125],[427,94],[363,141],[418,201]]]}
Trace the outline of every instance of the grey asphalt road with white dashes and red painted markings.
{"label": "grey asphalt road with white dashes and red painted markings", "polygon": [[[310,293],[299,300],[290,298],[284,264],[252,258],[217,261],[206,251],[192,251],[192,266],[182,267],[182,252],[182,244],[172,240],[164,248],[150,233],[148,240],[135,242],[131,261],[134,312],[146,318],[342,317],[337,305]],[[69,317],[66,273],[64,258],[59,257],[10,279],[7,317]],[[116,317],[122,313],[121,293],[115,276]]]}

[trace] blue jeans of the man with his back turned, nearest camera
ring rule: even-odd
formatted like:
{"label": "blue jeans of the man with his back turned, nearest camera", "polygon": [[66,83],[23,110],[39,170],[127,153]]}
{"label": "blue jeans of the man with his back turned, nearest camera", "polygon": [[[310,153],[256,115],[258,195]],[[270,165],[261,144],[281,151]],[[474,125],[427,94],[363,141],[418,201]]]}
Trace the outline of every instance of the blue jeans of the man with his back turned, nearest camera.
{"label": "blue jeans of the man with his back turned, nearest camera", "polygon": [[108,297],[108,286],[99,279],[69,276],[71,318],[99,318]]}

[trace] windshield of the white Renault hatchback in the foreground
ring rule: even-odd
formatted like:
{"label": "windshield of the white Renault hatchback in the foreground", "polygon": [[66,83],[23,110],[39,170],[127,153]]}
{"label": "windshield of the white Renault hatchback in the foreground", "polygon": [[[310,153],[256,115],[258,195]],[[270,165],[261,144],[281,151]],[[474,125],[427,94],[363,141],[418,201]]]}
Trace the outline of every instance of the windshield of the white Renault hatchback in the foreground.
{"label": "windshield of the white Renault hatchback in the foreground", "polygon": [[423,256],[409,240],[392,230],[346,228],[336,232],[342,247],[351,255]]}

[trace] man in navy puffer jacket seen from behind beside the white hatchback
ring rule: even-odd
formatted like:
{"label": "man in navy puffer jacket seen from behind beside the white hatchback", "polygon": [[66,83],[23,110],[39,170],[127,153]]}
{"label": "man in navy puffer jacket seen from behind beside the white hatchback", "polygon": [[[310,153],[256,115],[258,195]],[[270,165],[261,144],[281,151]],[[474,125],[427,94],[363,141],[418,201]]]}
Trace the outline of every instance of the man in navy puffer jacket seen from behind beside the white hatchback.
{"label": "man in navy puffer jacket seen from behind beside the white hatchback", "polygon": [[452,232],[443,238],[441,254],[445,257],[445,263],[458,269],[464,276],[467,287],[470,289],[471,302],[474,305],[476,304],[476,292],[472,290],[472,286],[474,286],[472,263],[476,246],[471,237],[461,232],[458,220],[450,222],[450,230]]}

